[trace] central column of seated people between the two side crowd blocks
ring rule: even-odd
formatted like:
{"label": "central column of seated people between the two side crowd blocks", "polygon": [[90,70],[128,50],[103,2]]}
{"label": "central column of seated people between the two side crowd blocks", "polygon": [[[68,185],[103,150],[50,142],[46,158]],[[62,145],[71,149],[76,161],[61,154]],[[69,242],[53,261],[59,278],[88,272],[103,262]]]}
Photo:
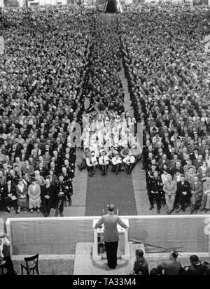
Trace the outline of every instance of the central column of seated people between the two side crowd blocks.
{"label": "central column of seated people between the two side crowd blocks", "polygon": [[84,148],[79,169],[93,176],[97,167],[106,175],[109,165],[118,174],[131,174],[141,155],[135,136],[136,120],[125,111],[120,80],[120,38],[118,17],[97,14],[87,83],[87,109],[83,113]]}

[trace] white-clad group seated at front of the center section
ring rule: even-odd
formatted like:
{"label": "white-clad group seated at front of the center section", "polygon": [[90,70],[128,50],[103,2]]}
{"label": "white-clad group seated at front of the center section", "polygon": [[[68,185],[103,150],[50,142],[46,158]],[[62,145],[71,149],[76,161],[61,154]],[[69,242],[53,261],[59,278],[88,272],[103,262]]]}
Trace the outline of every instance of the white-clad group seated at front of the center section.
{"label": "white-clad group seated at front of the center section", "polygon": [[97,167],[102,171],[102,176],[106,175],[109,164],[116,175],[119,171],[131,174],[141,157],[141,146],[134,136],[134,118],[130,118],[127,113],[123,113],[121,118],[115,113],[109,113],[109,116],[100,113],[83,129],[85,148],[83,160],[78,167],[80,170],[86,167],[89,176],[94,175]]}

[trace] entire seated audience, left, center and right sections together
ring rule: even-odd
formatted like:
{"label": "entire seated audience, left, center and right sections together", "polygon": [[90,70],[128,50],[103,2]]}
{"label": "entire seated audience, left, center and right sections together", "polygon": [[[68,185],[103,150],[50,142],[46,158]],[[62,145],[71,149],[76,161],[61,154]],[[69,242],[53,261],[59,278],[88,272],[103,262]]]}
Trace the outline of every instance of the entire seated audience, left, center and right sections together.
{"label": "entire seated audience, left, center and right sections together", "polygon": [[[148,198],[210,209],[210,60],[206,9],[129,6],[104,15],[76,6],[3,11],[0,78],[1,209],[71,205],[79,169],[131,174],[141,157]],[[71,16],[71,17],[70,17]],[[123,106],[120,59],[134,115]],[[144,128],[143,150],[137,122]],[[81,135],[76,132],[76,125]],[[79,129],[78,129],[79,132]],[[78,140],[77,140],[78,141]]]}

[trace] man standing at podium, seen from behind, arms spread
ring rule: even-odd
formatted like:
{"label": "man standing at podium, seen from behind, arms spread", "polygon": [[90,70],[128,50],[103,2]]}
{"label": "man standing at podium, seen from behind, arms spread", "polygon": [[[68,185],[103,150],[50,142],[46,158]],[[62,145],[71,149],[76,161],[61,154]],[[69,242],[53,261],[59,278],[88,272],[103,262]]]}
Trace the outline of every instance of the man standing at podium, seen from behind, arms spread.
{"label": "man standing at podium, seen from behind, arms spread", "polygon": [[108,207],[108,213],[96,223],[94,229],[97,229],[104,224],[104,242],[106,248],[106,255],[108,260],[108,266],[111,269],[115,269],[117,266],[117,251],[119,234],[117,225],[119,224],[123,228],[127,228],[127,225],[120,220],[120,218],[114,214],[115,205],[111,204]]}

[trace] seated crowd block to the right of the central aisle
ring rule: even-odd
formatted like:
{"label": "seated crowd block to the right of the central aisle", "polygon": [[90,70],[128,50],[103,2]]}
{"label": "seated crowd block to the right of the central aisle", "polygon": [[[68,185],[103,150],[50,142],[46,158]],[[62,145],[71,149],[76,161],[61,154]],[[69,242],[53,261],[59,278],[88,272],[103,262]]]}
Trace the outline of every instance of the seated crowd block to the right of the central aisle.
{"label": "seated crowd block to the right of the central aisle", "polygon": [[142,6],[122,17],[123,64],[144,125],[150,210],[210,209],[208,8]]}

